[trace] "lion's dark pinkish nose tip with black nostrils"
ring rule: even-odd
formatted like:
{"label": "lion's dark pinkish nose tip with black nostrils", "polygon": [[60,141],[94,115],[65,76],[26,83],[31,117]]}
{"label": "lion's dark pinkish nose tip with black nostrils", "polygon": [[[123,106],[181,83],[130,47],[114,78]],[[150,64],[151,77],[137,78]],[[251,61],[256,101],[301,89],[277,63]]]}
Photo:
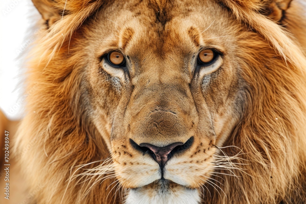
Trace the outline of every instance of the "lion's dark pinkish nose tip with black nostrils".
{"label": "lion's dark pinkish nose tip with black nostrils", "polygon": [[178,152],[182,152],[184,150],[189,149],[193,143],[193,137],[189,138],[187,142],[176,142],[169,144],[165,147],[158,147],[149,143],[140,143],[136,144],[132,139],[130,139],[130,143],[134,148],[140,150],[142,153],[149,153],[152,158],[159,164],[160,168],[163,169],[166,165],[166,162]]}

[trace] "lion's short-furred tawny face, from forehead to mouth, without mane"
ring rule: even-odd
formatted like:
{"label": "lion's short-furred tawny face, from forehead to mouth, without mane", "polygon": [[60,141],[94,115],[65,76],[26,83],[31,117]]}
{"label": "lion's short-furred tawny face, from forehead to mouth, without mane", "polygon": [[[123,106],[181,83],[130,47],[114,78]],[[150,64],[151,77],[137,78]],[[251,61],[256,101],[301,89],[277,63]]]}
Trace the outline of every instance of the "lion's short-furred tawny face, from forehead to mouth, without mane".
{"label": "lion's short-furred tawny face, from forehead to mouth, without mane", "polygon": [[92,120],[116,175],[125,188],[198,189],[240,116],[240,28],[214,1],[114,4],[86,40]]}

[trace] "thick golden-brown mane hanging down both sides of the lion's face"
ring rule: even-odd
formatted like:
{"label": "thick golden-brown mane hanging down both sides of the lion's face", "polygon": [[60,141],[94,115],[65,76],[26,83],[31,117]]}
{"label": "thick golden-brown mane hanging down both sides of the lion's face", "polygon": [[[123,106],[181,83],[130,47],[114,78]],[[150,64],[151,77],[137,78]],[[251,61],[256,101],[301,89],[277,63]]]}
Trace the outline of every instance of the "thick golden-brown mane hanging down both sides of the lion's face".
{"label": "thick golden-brown mane hanging down both sides of the lion's face", "polygon": [[[79,48],[69,47],[79,35],[78,28],[105,2],[58,0],[57,3],[65,15],[38,37],[30,55],[28,67],[31,69],[26,85],[31,94],[18,133],[20,159],[29,166],[25,170],[32,175],[29,180],[33,188],[42,185],[42,181],[51,184],[41,188],[35,198],[37,203],[51,203],[51,200],[53,203],[116,203],[120,200],[118,192],[115,194],[119,186],[112,173],[112,161],[107,159],[110,157],[108,144],[95,136],[99,133],[91,123],[86,91],[82,90],[86,64],[80,61]],[[306,180],[306,58],[303,51],[284,27],[258,12],[265,1],[223,0],[220,3],[230,9],[241,24],[255,31],[241,36],[243,47],[248,48],[249,43],[253,43],[248,40],[253,35],[261,35],[266,42],[251,45],[257,47],[257,53],[253,49],[237,53],[248,84],[247,94],[243,116],[224,146],[241,148],[244,154],[235,163],[244,170],[234,171],[238,177],[215,176],[214,179],[223,184],[226,196],[220,196],[216,189],[207,186],[210,194],[205,195],[205,202],[305,201],[306,191],[300,192],[304,198],[293,195],[297,189],[306,189],[305,183],[295,185],[299,180]],[[275,52],[263,53],[273,59],[269,64],[270,60],[260,58],[259,53],[270,46]],[[224,151],[235,155],[240,150],[228,147]],[[106,160],[98,161],[101,158]],[[98,162],[91,163],[94,161]],[[88,163],[91,164],[80,168]],[[97,184],[92,185],[94,182]],[[291,200],[288,195],[297,200]]]}

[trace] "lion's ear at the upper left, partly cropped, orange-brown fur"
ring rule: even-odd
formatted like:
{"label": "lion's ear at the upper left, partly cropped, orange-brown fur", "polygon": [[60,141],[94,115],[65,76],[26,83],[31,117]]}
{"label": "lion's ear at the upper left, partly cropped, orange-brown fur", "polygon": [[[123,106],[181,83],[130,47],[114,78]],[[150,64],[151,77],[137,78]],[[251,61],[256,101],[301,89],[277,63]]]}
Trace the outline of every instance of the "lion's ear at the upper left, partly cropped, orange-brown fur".
{"label": "lion's ear at the upper left, partly cropped, orange-brown fur", "polygon": [[46,21],[47,27],[54,24],[59,19],[61,11],[60,7],[54,0],[32,0],[34,6]]}

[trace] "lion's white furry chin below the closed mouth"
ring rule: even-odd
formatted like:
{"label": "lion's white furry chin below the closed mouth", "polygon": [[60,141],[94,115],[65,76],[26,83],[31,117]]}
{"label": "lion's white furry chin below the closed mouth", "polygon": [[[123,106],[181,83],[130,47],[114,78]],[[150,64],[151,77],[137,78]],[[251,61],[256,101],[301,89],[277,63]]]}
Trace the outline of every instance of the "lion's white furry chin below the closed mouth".
{"label": "lion's white furry chin below the closed mouth", "polygon": [[159,180],[145,187],[129,189],[125,204],[198,204],[200,192],[169,180]]}

